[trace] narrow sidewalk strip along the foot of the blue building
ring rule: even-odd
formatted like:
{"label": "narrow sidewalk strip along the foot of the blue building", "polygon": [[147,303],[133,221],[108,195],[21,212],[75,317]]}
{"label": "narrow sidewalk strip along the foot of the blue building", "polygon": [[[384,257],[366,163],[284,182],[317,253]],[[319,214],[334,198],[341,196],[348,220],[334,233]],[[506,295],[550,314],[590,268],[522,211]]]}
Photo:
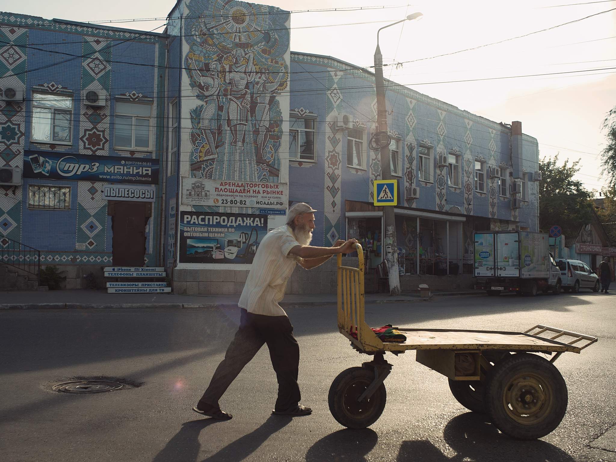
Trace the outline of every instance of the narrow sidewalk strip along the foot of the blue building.
{"label": "narrow sidewalk strip along the foot of the blue building", "polygon": [[[387,294],[366,294],[365,303],[421,302],[435,296],[484,294],[484,291],[434,291],[428,298],[419,293],[397,297]],[[0,292],[0,309],[66,309],[66,308],[235,308],[236,295],[174,295],[157,293],[110,294],[105,290],[52,290]],[[280,306],[335,305],[336,294],[287,294]]]}

